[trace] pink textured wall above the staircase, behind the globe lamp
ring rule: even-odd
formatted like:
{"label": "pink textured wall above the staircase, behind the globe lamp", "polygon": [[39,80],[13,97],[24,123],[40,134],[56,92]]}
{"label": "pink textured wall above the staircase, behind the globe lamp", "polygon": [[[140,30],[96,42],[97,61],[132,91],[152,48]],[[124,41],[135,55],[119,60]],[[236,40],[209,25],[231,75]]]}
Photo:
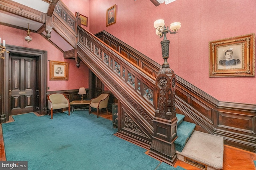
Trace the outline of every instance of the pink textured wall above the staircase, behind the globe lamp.
{"label": "pink textured wall above the staircase, behind the globe lamp", "polygon": [[[106,10],[116,4],[116,23],[106,27]],[[256,1],[176,0],[154,6],[150,0],[91,0],[90,32],[108,31],[118,39],[163,63],[153,23],[181,22],[176,35],[168,34],[170,67],[174,72],[223,102],[256,104],[255,77],[209,78],[209,41],[256,31]]]}

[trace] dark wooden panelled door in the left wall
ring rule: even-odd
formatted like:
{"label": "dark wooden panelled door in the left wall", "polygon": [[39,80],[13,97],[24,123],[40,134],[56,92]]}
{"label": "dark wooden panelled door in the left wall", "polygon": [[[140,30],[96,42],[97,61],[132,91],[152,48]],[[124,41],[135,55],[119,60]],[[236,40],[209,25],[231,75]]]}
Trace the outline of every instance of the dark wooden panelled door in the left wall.
{"label": "dark wooden panelled door in the left wall", "polygon": [[36,59],[11,56],[10,69],[11,115],[35,111]]}

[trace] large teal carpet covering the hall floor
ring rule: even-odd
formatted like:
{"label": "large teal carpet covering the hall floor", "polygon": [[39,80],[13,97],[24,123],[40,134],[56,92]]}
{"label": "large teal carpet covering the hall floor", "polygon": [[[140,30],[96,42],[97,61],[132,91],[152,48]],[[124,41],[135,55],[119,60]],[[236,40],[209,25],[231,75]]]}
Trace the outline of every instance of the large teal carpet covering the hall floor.
{"label": "large teal carpet covering the hall floor", "polygon": [[[180,170],[146,155],[113,134],[112,121],[88,111],[13,116],[2,124],[7,161],[28,161],[28,170]],[[183,168],[182,168],[183,169]]]}

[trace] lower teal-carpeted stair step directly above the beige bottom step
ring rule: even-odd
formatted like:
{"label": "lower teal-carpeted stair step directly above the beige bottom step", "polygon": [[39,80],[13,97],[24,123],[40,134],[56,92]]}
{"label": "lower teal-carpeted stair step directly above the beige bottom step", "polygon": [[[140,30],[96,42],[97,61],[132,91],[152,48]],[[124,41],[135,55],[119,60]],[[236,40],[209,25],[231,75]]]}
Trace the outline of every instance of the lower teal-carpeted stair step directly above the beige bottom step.
{"label": "lower teal-carpeted stair step directly above the beige bottom step", "polygon": [[177,128],[178,138],[174,141],[176,150],[178,150],[179,152],[182,151],[188,139],[192,135],[195,127],[196,124],[187,121],[182,121],[182,123],[180,123],[180,125]]}

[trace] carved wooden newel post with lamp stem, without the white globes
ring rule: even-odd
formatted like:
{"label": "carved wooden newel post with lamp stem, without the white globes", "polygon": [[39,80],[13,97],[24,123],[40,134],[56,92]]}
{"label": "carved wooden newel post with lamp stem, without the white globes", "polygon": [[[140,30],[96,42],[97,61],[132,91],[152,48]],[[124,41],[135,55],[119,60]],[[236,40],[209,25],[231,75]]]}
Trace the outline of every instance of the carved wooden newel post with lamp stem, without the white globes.
{"label": "carved wooden newel post with lamp stem, without the white globes", "polygon": [[156,78],[157,107],[153,125],[154,135],[149,152],[151,156],[172,166],[177,160],[174,141],[177,138],[178,119],[175,111],[176,76],[167,62],[170,41],[166,39],[166,33],[176,33],[177,30],[171,32],[165,26],[158,30],[158,35],[164,36],[164,40],[161,41],[164,63]]}

